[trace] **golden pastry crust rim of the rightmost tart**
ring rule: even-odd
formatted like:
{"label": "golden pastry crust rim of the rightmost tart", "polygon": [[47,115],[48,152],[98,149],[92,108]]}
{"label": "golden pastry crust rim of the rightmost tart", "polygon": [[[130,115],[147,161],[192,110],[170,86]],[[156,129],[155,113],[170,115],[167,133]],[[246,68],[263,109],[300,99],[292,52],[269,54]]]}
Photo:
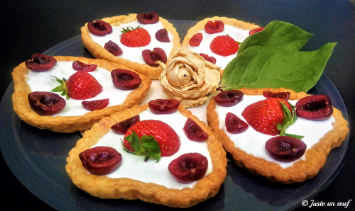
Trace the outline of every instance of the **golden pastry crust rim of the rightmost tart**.
{"label": "golden pastry crust rim of the rightmost tart", "polygon": [[[295,93],[295,91],[288,89],[240,90],[244,92],[244,95],[262,95],[263,91],[290,91],[290,100],[298,100],[307,96],[306,93]],[[348,122],[342,117],[342,113],[334,108],[333,117],[335,122],[333,122],[333,129],[327,132],[320,139],[320,142],[313,145],[312,148],[307,149],[305,160],[296,161],[293,166],[283,169],[276,163],[247,154],[243,150],[236,148],[234,142],[229,139],[226,132],[219,129],[219,119],[215,108],[216,101],[214,101],[213,97],[207,105],[207,122],[209,127],[212,127],[212,130],[218,135],[227,154],[232,156],[238,166],[248,169],[251,173],[258,176],[264,176],[273,182],[296,183],[314,177],[322,169],[322,166],[324,166],[330,150],[339,147],[349,132]]]}

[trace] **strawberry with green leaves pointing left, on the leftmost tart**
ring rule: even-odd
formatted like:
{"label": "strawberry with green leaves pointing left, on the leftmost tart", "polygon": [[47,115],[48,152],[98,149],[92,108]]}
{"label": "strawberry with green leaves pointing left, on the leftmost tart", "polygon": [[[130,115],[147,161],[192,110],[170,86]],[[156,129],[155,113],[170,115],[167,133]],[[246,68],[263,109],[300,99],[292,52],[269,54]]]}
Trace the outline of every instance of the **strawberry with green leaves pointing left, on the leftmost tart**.
{"label": "strawberry with green leaves pointing left, on the leftmost tart", "polygon": [[62,96],[67,96],[67,99],[84,100],[93,98],[102,92],[102,85],[88,72],[76,72],[67,80],[55,78],[61,85],[55,87],[52,91],[61,91]]}

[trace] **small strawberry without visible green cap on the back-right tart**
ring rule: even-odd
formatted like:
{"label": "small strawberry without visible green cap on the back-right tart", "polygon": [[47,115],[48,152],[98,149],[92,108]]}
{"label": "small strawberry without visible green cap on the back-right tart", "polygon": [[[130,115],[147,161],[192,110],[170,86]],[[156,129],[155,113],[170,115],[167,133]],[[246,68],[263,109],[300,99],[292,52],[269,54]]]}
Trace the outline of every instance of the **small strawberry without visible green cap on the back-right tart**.
{"label": "small strawberry without visible green cap on the back-right tart", "polygon": [[226,57],[234,55],[239,50],[239,43],[229,35],[220,35],[212,40],[209,47],[215,54]]}

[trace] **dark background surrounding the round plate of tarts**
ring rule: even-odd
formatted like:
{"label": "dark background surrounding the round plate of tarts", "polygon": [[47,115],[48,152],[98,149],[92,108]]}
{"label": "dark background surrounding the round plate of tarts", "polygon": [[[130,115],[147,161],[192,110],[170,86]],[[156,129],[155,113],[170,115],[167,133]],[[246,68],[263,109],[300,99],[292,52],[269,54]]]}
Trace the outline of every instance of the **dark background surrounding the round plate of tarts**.
{"label": "dark background surrounding the round plate of tarts", "polygon": [[[1,1],[0,98],[12,81],[11,72],[35,52],[44,52],[76,35],[84,23],[98,18],[155,11],[168,20],[200,21],[212,16],[227,16],[265,26],[274,20],[293,23],[313,38],[303,50],[316,50],[327,42],[338,42],[324,73],[339,89],[350,118],[351,141],[355,115],[355,6],[351,1]],[[180,35],[183,39],[185,35]],[[0,126],[1,127],[1,126]],[[0,140],[1,141],[1,140]],[[349,156],[339,175],[315,197],[320,202],[353,200],[346,210],[355,210],[354,156]],[[13,176],[1,156],[1,207],[7,210],[37,208],[50,210]],[[302,208],[302,207],[300,207]],[[344,210],[344,207],[339,207]],[[1,209],[2,210],[2,209]],[[304,208],[302,210],[316,210]],[[336,210],[336,208],[332,208]]]}

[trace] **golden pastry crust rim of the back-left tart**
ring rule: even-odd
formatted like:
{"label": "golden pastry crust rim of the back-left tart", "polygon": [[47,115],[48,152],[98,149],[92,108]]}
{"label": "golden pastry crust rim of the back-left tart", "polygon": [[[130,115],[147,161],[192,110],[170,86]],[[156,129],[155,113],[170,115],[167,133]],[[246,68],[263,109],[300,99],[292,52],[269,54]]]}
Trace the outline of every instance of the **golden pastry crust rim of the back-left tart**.
{"label": "golden pastry crust rim of the back-left tart", "polygon": [[[137,20],[136,16],[137,16],[137,14],[132,13],[132,14],[129,14],[128,16],[122,15],[122,16],[114,16],[111,18],[103,18],[102,21],[110,23],[113,26],[117,26],[117,25],[120,25],[121,23],[130,23],[132,21],[136,21]],[[171,42],[173,42],[173,48],[170,51],[170,54],[171,54],[178,47],[181,46],[179,34],[176,31],[176,29],[174,28],[173,24],[169,23],[169,21],[165,20],[162,17],[159,17],[159,21],[160,21],[160,23],[163,24],[163,27],[173,35],[173,40],[171,40]],[[89,29],[87,28],[87,24],[88,23],[86,23],[81,28],[82,43],[95,58],[107,59],[112,62],[122,63],[122,64],[125,64],[130,69],[133,69],[135,72],[141,73],[144,76],[148,77],[148,79],[154,79],[154,80],[159,79],[160,73],[162,71],[162,69],[160,69],[159,66],[158,67],[151,67],[148,64],[131,62],[128,59],[124,59],[121,57],[115,57],[110,52],[108,52],[106,49],[104,49],[104,47],[102,47],[101,45],[97,44],[96,42],[94,42],[92,40],[91,36],[89,35]],[[170,55],[167,55],[167,57],[169,58]]]}

